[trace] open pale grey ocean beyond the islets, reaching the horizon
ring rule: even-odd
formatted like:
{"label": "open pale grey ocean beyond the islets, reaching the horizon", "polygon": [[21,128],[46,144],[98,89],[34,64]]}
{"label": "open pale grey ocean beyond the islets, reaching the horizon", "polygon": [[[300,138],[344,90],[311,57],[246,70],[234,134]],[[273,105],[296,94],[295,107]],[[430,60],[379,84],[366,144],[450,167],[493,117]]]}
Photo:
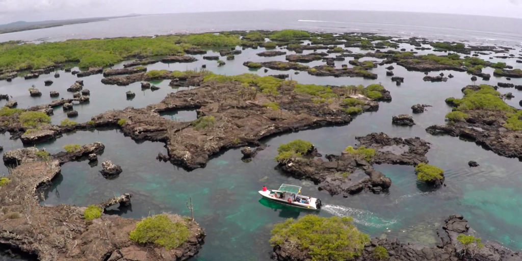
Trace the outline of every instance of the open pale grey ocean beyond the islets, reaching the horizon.
{"label": "open pale grey ocean beyond the islets, reaching the horizon", "polygon": [[0,34],[0,41],[130,37],[184,32],[278,30],[375,32],[402,37],[520,44],[522,19],[384,11],[242,11],[147,15]]}

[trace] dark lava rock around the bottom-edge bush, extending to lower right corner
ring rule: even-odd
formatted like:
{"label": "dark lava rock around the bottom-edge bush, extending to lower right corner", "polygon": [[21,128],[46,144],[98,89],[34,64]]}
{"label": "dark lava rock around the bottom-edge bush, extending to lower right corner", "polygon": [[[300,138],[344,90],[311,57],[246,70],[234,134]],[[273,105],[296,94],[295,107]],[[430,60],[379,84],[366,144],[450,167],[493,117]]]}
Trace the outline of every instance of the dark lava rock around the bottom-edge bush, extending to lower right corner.
{"label": "dark lava rock around the bottom-edge bush, extending to lower right corner", "polygon": [[[478,244],[463,245],[457,240],[460,234],[478,237],[478,232],[470,228],[468,221],[461,215],[452,215],[444,220],[442,228],[437,229],[437,243],[435,246],[424,246],[417,242],[401,243],[397,239],[372,239],[364,245],[360,256],[354,261],[383,260],[374,256],[377,246],[386,248],[390,261],[517,261],[522,260],[522,253],[513,252],[495,242],[485,242],[482,247]],[[304,261],[310,256],[291,244],[274,246],[272,257],[278,261]]]}

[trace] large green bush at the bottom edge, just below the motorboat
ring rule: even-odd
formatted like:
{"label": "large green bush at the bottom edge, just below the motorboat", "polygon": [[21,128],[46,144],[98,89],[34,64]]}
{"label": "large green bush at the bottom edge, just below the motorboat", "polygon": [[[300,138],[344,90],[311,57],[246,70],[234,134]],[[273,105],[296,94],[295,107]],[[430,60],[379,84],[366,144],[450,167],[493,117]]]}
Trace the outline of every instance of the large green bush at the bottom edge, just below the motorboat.
{"label": "large green bush at the bottom edge, just below the motorboat", "polygon": [[306,215],[274,226],[270,232],[272,245],[293,244],[305,251],[312,261],[352,260],[360,256],[367,234],[353,226],[351,217],[318,217]]}

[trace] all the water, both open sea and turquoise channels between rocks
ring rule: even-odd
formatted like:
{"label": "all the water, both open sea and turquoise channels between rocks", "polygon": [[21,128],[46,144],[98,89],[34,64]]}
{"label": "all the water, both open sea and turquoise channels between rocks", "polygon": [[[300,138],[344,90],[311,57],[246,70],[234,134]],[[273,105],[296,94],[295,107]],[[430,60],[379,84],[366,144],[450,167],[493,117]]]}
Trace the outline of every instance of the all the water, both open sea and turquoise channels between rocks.
{"label": "all the water, both open sea and turquoise channels between rocks", "polygon": [[[59,41],[70,38],[282,28],[325,32],[365,31],[489,44],[516,45],[522,41],[522,20],[517,19],[362,11],[257,11],[141,16],[0,34],[0,41]],[[408,50],[413,48],[409,44],[400,46]],[[366,52],[357,48],[349,50],[356,53]],[[200,68],[205,64],[208,70],[217,74],[281,73],[276,70],[266,73],[262,69],[250,70],[242,65],[245,61],[284,60],[284,56],[256,55],[262,51],[265,49],[244,50],[235,60],[227,61],[225,66],[220,67],[215,62],[203,60],[201,55],[194,55],[198,61],[193,63],[157,63],[148,65],[147,68],[186,70]],[[520,47],[517,47],[511,53],[518,55],[520,51]],[[312,50],[305,51],[310,52]],[[425,54],[428,51],[420,53]],[[210,51],[208,55],[217,53]],[[506,62],[516,68],[521,67],[514,59],[492,57],[490,60],[490,56],[493,55],[480,57],[492,62]],[[348,63],[350,59],[336,62],[336,67]],[[122,64],[118,63],[114,68],[120,68]],[[316,61],[307,65],[319,64],[322,62]],[[248,163],[241,161],[239,149],[232,149],[213,157],[205,168],[187,172],[169,162],[158,162],[155,159],[158,152],[167,153],[164,144],[150,141],[135,143],[118,129],[71,133],[54,141],[39,144],[37,147],[55,153],[63,150],[66,144],[101,141],[106,148],[100,159],[111,159],[124,170],[117,179],[105,180],[98,172],[101,168],[99,165],[91,167],[85,161],[64,164],[61,175],[53,181],[53,186],[45,193],[41,204],[86,206],[115,194],[132,193],[132,207],[121,211],[113,209],[113,212],[124,217],[141,218],[150,213],[165,211],[188,215],[185,202],[192,197],[196,220],[205,229],[207,238],[203,249],[191,261],[269,260],[271,247],[268,239],[273,224],[289,217],[302,217],[310,212],[259,200],[257,190],[263,185],[277,187],[280,183],[290,183],[302,185],[303,194],[323,200],[326,206],[318,215],[352,216],[357,227],[371,236],[388,236],[405,242],[433,245],[436,242],[435,229],[441,226],[444,218],[461,213],[483,240],[498,241],[514,250],[522,249],[522,222],[519,218],[522,216],[522,198],[519,196],[522,193],[522,163],[517,159],[495,155],[468,141],[449,136],[432,136],[425,132],[425,128],[432,124],[444,123],[444,115],[451,111],[444,99],[461,97],[460,89],[471,84],[470,75],[465,72],[443,71],[444,74],[452,73],[455,77],[448,82],[432,83],[422,80],[422,72],[409,72],[401,66],[395,66],[395,74],[405,77],[404,84],[396,86],[385,76],[384,67],[372,69],[372,72],[378,74],[376,80],[357,77],[315,77],[306,73],[294,75],[293,70],[286,72],[303,84],[369,85],[382,82],[392,94],[393,101],[380,103],[377,112],[359,115],[345,126],[318,128],[266,138],[263,142],[268,145],[267,149],[260,151],[256,158]],[[493,69],[485,68],[484,72],[492,74]],[[438,73],[440,72],[431,75]],[[72,93],[66,89],[78,78],[63,70],[60,74],[60,78],[54,78],[49,74],[37,79],[24,80],[19,77],[12,82],[0,81],[0,93],[13,96],[18,101],[19,108],[49,103],[53,100],[48,96],[51,90],[59,91],[60,97],[68,98]],[[167,93],[186,89],[171,88],[168,81],[158,81],[153,84],[161,89],[152,92],[141,90],[139,82],[129,86],[103,85],[101,78],[101,75],[82,78],[86,88],[91,91],[91,101],[88,104],[75,105],[75,110],[79,112],[75,121],[86,122],[91,116],[111,109],[123,109],[127,106],[140,108],[159,102]],[[44,87],[43,81],[49,79],[53,80],[54,84]],[[490,81],[479,79],[477,84],[495,85],[498,81],[505,81],[505,78],[492,77]],[[520,85],[522,79],[513,79],[511,82]],[[29,97],[27,88],[33,84],[44,93],[42,97]],[[134,99],[126,99],[125,92],[128,90],[136,93]],[[509,88],[500,88],[499,91],[513,92],[516,98],[506,102],[522,109],[518,103],[522,98],[522,91]],[[0,106],[4,103],[5,101],[0,101]],[[430,104],[433,107],[425,113],[413,115],[417,125],[392,125],[393,115],[411,113],[410,106],[416,103]],[[62,109],[57,108],[51,118],[53,123],[58,124],[66,117]],[[195,111],[180,111],[164,117],[176,121],[191,121],[195,118]],[[299,138],[311,141],[323,155],[339,154],[347,146],[355,144],[356,136],[372,132],[385,132],[394,137],[418,136],[428,140],[432,144],[428,159],[430,163],[444,169],[446,186],[435,191],[426,189],[422,183],[416,181],[411,166],[377,165],[376,169],[392,179],[393,184],[388,192],[379,195],[361,193],[348,198],[332,197],[324,191],[318,191],[318,186],[312,182],[296,180],[275,168],[274,157],[281,143]],[[0,145],[4,150],[23,147],[19,140],[11,140],[9,136],[7,133],[0,135]],[[0,151],[0,156],[2,153],[3,151]],[[476,160],[480,166],[469,168],[469,160]],[[0,175],[2,173],[7,173],[7,169],[0,164]],[[0,260],[19,259],[0,254]]]}

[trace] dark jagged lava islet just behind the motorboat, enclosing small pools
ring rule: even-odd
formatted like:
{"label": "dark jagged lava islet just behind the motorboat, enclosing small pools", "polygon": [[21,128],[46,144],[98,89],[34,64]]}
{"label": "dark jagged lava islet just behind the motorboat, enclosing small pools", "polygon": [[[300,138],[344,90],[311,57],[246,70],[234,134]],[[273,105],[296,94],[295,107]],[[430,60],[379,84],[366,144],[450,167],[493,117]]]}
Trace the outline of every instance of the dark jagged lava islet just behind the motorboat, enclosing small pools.
{"label": "dark jagged lava islet just behind the motorboat, enclosing small pools", "polygon": [[[427,162],[425,155],[430,144],[420,138],[390,138],[384,133],[372,133],[357,137],[359,147],[374,149],[373,156],[343,151],[340,156],[327,155],[327,161],[312,149],[302,158],[279,160],[279,167],[298,179],[319,184],[320,190],[331,195],[357,194],[362,191],[381,193],[392,185],[383,173],[373,169],[373,164],[416,165]],[[412,175],[413,176],[413,175]]]}

